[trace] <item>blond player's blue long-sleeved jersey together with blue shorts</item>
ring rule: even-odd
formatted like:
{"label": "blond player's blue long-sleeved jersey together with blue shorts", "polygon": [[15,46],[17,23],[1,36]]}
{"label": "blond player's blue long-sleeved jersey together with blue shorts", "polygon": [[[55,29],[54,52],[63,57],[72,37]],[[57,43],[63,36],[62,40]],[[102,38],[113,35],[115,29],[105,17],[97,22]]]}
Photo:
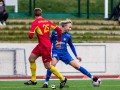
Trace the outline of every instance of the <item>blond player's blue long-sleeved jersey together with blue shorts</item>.
{"label": "blond player's blue long-sleeved jersey together with blue shorts", "polygon": [[75,47],[72,43],[71,34],[68,32],[62,33],[60,48],[56,48],[55,46],[57,43],[57,38],[57,32],[53,30],[52,35],[50,37],[50,40],[52,42],[52,57],[55,57],[58,60],[62,60],[64,63],[68,64],[71,60],[73,60],[73,58],[68,53],[67,44],[69,44],[73,54],[77,56]]}

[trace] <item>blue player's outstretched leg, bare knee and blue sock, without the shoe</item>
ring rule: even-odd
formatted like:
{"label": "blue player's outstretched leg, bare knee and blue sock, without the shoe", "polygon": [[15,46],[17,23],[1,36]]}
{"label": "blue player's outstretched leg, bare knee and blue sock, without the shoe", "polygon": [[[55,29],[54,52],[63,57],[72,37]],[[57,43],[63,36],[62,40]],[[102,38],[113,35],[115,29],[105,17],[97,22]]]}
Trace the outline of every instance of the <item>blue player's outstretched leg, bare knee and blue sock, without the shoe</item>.
{"label": "blue player's outstretched leg, bare knee and blue sock, without the shoe", "polygon": [[80,65],[78,65],[75,60],[70,61],[69,64],[75,69],[77,69],[78,71],[82,72],[84,75],[88,76],[89,78],[91,79],[93,78],[91,73],[88,72],[84,67],[81,67]]}

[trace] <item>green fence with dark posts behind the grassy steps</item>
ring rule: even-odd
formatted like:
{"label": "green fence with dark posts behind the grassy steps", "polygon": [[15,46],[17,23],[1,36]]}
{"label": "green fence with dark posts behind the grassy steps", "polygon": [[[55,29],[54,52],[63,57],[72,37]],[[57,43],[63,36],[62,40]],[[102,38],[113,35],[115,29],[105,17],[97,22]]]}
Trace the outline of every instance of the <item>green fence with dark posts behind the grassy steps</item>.
{"label": "green fence with dark posts behind the grassy steps", "polygon": [[[7,6],[10,16],[32,16],[35,7],[43,10],[45,17],[92,17],[104,16],[105,0],[18,0],[18,13],[14,7]],[[120,0],[108,0],[108,12]]]}

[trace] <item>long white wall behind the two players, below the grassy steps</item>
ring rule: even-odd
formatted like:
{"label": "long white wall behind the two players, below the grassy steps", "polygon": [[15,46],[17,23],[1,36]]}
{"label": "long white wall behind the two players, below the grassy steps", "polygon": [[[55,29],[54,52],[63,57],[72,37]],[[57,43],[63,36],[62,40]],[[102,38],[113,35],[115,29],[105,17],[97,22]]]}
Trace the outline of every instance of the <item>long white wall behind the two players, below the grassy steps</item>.
{"label": "long white wall behind the two players, below the grassy steps", "polygon": [[[0,48],[21,48],[26,52],[26,69],[27,75],[30,74],[28,57],[31,50],[37,43],[0,43]],[[120,44],[119,43],[79,43],[75,44],[77,54],[82,58],[82,62],[78,62],[94,75],[120,75]],[[71,55],[74,57],[70,48]],[[5,56],[7,56],[5,54]],[[37,76],[45,75],[46,69],[43,66],[41,57],[37,59]],[[2,64],[2,60],[0,60]],[[8,64],[9,65],[9,64]],[[7,66],[8,66],[7,65]],[[64,75],[82,75],[69,65],[65,65],[61,61],[56,66]],[[4,68],[1,67],[4,70]],[[20,68],[19,68],[20,69]]]}

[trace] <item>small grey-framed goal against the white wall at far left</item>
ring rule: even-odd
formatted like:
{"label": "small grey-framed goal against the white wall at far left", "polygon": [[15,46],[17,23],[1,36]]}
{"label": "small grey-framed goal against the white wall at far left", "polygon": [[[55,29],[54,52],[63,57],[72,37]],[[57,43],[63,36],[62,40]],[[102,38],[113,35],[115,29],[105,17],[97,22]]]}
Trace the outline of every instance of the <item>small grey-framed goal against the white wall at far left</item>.
{"label": "small grey-framed goal against the white wall at far left", "polygon": [[27,74],[25,49],[0,48],[0,76]]}

